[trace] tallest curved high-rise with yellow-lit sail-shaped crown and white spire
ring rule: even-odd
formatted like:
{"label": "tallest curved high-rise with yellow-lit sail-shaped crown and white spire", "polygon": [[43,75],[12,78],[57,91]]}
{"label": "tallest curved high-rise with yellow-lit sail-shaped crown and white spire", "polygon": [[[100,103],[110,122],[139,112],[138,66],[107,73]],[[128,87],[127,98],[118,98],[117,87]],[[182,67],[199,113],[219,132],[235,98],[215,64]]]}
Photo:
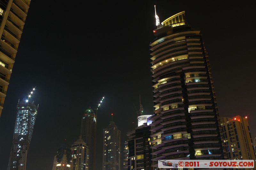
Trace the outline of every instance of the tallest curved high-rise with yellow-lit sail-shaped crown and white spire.
{"label": "tallest curved high-rise with yellow-lit sail-shaped crown and white spire", "polygon": [[185,11],[159,23],[150,43],[155,115],[153,167],[159,159],[223,159],[209,57]]}

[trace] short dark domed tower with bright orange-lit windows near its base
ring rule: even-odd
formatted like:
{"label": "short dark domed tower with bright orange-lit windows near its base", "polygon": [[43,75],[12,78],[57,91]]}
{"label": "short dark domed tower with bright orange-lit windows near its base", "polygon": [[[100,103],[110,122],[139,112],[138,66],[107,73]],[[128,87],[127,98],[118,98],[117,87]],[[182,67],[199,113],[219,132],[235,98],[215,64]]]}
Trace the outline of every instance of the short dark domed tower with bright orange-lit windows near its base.
{"label": "short dark domed tower with bright orange-lit windows near its base", "polygon": [[54,156],[52,170],[72,170],[71,150],[66,144],[62,144]]}

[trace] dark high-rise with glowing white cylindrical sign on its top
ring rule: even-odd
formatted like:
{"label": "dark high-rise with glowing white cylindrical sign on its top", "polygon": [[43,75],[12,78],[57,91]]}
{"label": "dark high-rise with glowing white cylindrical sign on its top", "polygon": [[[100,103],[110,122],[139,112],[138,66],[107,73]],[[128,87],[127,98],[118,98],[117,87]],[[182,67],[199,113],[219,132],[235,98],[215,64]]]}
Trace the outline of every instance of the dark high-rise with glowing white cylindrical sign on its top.
{"label": "dark high-rise with glowing white cylindrical sign on its top", "polygon": [[138,116],[138,127],[126,134],[128,137],[124,143],[124,169],[126,170],[151,169],[150,116]]}

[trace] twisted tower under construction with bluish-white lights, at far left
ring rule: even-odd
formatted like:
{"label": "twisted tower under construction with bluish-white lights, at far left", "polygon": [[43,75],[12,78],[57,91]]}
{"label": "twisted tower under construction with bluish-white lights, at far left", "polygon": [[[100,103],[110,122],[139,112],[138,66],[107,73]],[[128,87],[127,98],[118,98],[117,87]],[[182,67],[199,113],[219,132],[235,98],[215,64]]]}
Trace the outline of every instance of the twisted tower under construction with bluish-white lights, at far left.
{"label": "twisted tower under construction with bluish-white lights, at far left", "polygon": [[36,121],[37,109],[34,102],[19,101],[14,126],[12,149],[8,170],[26,170],[28,149]]}

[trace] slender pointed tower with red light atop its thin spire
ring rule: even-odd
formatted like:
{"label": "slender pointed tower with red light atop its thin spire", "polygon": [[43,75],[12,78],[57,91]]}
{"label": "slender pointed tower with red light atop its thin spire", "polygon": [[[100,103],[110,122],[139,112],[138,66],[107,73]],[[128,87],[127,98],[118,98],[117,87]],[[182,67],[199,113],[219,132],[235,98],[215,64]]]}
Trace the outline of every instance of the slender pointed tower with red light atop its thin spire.
{"label": "slender pointed tower with red light atop its thin spire", "polygon": [[120,133],[114,121],[103,129],[103,166],[102,170],[120,170],[121,145]]}

